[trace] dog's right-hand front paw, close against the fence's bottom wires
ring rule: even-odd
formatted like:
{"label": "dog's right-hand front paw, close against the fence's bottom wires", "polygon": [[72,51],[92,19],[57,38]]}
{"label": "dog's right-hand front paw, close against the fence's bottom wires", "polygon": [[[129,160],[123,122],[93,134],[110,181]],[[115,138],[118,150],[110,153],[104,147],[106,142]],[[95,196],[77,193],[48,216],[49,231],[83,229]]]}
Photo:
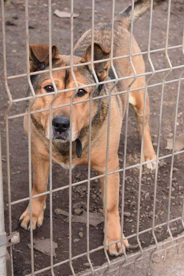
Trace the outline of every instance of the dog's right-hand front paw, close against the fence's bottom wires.
{"label": "dog's right-hand front paw, close against the fence's bottom wires", "polygon": [[[125,236],[123,235],[123,238]],[[119,221],[117,223],[107,223],[107,235],[106,235],[106,245],[112,243],[113,241],[117,241],[121,239],[121,227]],[[123,248],[124,250],[128,250],[129,244],[128,240],[123,240]],[[120,256],[123,254],[123,248],[121,246],[121,242],[119,241],[116,244],[112,244],[107,246],[107,251],[111,256]]]}

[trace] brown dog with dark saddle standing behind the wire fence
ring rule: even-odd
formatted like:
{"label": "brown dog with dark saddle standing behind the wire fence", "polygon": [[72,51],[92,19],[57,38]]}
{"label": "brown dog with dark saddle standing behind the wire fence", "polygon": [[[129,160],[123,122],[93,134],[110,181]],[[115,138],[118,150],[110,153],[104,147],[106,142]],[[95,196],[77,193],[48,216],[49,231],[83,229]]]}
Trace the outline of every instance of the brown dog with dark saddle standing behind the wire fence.
{"label": "brown dog with dark saddle standing behind the wire fence", "polygon": [[[154,6],[159,5],[164,0],[154,0]],[[134,19],[150,9],[150,0],[138,0],[134,6]],[[113,56],[129,54],[130,43],[130,22],[131,6],[125,9],[115,18],[114,24],[114,50]],[[110,57],[111,25],[99,25],[94,29],[94,60],[107,59]],[[133,53],[139,53],[140,49],[133,38]],[[91,30],[85,32],[74,47],[74,63],[84,63],[91,61]],[[48,45],[30,46],[30,70],[39,71],[48,69],[49,47]],[[67,66],[70,64],[70,57],[59,55],[57,47],[52,46],[52,66],[53,68]],[[137,74],[145,72],[145,65],[142,55],[133,57],[133,64]],[[131,76],[133,70],[128,58],[114,60],[115,70],[118,77]],[[110,70],[110,62],[94,64],[94,69],[99,81],[114,78]],[[74,73],[79,86],[95,83],[91,66],[74,67]],[[75,87],[70,70],[53,71],[53,78],[58,90]],[[49,73],[34,75],[31,78],[34,91],[37,95],[52,92],[53,84]],[[126,94],[114,95],[116,91],[126,90],[131,79],[119,81],[112,91],[111,97],[111,120],[110,120],[110,141],[109,141],[109,160],[108,171],[119,169],[118,147],[121,133],[121,125],[126,108]],[[108,95],[113,83],[100,85],[94,93],[94,97]],[[132,88],[144,87],[145,76],[138,77],[131,86]],[[79,89],[73,102],[81,99],[89,99],[94,87]],[[75,91],[59,93],[53,106],[68,104]],[[31,95],[30,88],[27,96]],[[36,98],[31,110],[49,108],[53,95]],[[129,103],[135,111],[138,122],[138,130],[142,135],[142,120],[144,106],[144,89],[130,93]],[[30,101],[27,101],[29,106]],[[91,167],[99,174],[105,173],[106,167],[106,141],[107,141],[107,116],[108,116],[108,97],[92,101],[92,147],[91,147]],[[52,111],[52,159],[53,162],[61,164],[64,168],[69,168],[69,122],[70,107],[56,108]],[[148,126],[149,119],[149,100],[146,100],[146,117],[144,129],[144,160],[156,158]],[[24,117],[24,129],[28,135],[28,116]],[[73,105],[72,112],[72,166],[78,164],[88,164],[88,138],[89,138],[89,101]],[[34,185],[32,195],[47,191],[49,177],[49,111],[31,115],[31,149],[32,165],[34,169]],[[83,150],[83,151],[82,151]],[[153,169],[155,162],[147,164]],[[101,177],[100,184],[104,192],[105,178]],[[119,201],[119,173],[111,174],[108,177],[108,196],[107,196],[107,235],[106,242],[111,243],[121,237],[121,227],[118,211]],[[104,193],[103,193],[104,202]],[[32,200],[32,221],[33,229],[36,225],[40,227],[43,223],[44,209],[46,208],[46,196],[40,196]],[[29,205],[20,217],[21,226],[29,229],[30,211]],[[122,230],[123,231],[123,230]],[[128,247],[128,241],[123,241]],[[122,254],[120,242],[108,247],[111,255]]]}

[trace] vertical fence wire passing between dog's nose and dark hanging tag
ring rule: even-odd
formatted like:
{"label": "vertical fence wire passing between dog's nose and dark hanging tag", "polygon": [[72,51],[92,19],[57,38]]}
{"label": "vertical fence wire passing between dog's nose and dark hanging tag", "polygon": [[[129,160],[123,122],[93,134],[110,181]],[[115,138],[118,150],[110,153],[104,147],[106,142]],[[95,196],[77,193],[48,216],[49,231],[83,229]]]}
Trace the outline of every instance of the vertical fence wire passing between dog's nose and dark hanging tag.
{"label": "vertical fence wire passing between dog's nose and dark hanging tag", "polygon": [[71,37],[71,50],[70,50],[70,70],[71,70],[71,74],[73,77],[73,80],[75,82],[75,93],[73,93],[73,96],[70,99],[70,134],[69,134],[69,264],[70,264],[70,269],[72,274],[75,276],[75,272],[73,269],[73,265],[72,265],[72,252],[71,252],[71,239],[72,239],[72,235],[71,235],[71,184],[72,184],[72,103],[73,103],[73,98],[75,97],[75,95],[78,93],[78,83],[77,80],[75,78],[75,74],[73,71],[73,0],[71,0],[71,32],[70,32],[70,37]]}

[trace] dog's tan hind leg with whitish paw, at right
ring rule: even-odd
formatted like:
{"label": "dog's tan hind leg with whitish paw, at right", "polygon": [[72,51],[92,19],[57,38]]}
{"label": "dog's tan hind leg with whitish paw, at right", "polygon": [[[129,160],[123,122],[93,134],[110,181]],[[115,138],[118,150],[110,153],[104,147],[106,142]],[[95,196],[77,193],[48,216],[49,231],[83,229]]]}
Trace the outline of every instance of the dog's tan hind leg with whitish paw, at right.
{"label": "dog's tan hind leg with whitish paw, at right", "polygon": [[[141,85],[140,85],[141,87]],[[133,88],[133,87],[131,87]],[[143,123],[143,111],[144,111],[144,89],[138,91],[131,91],[129,97],[129,104],[131,104],[135,117],[138,123],[138,131],[140,139],[142,137],[142,123]],[[148,125],[150,116],[150,107],[149,107],[149,98],[148,94],[146,95],[146,110],[145,110],[145,123],[144,123],[144,150],[143,150],[143,162],[156,159],[156,154],[151,141],[150,136],[150,127]],[[146,164],[148,169],[155,169],[156,162],[150,162]]]}

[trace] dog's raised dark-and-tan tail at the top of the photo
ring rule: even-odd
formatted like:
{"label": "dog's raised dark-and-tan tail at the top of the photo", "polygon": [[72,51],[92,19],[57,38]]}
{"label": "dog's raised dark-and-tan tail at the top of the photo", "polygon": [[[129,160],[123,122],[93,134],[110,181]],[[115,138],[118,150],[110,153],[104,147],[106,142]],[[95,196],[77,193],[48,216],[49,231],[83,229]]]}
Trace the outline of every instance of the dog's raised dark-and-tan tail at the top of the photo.
{"label": "dog's raised dark-and-tan tail at the top of the photo", "polygon": [[[166,0],[153,0],[153,8],[161,5]],[[137,0],[134,3],[133,21],[135,22],[143,14],[150,10],[150,0]],[[124,11],[115,17],[115,21],[122,22],[123,25],[129,30],[131,26],[131,6],[127,7]]]}

